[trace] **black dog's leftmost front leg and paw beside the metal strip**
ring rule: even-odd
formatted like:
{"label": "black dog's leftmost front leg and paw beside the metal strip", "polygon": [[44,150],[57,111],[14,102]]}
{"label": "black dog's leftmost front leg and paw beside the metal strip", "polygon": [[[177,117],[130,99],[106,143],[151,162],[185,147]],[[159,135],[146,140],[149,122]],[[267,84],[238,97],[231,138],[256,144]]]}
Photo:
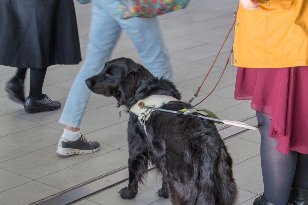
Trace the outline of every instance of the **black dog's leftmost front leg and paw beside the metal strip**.
{"label": "black dog's leftmost front leg and paw beside the metal strip", "polygon": [[148,169],[148,158],[144,154],[128,158],[128,187],[119,192],[122,199],[133,199],[138,192],[138,183],[142,182],[144,173]]}

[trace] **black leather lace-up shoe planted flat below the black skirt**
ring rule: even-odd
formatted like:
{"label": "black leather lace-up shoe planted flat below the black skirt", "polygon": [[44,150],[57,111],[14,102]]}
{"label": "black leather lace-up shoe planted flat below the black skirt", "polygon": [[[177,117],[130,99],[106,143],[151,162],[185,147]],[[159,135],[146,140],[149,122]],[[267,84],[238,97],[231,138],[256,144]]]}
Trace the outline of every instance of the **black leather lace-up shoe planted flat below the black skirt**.
{"label": "black leather lace-up shoe planted flat below the black skirt", "polygon": [[27,97],[23,107],[26,113],[38,113],[43,111],[53,111],[61,108],[61,103],[59,101],[52,101],[46,94],[43,94],[44,98],[42,100],[33,100]]}

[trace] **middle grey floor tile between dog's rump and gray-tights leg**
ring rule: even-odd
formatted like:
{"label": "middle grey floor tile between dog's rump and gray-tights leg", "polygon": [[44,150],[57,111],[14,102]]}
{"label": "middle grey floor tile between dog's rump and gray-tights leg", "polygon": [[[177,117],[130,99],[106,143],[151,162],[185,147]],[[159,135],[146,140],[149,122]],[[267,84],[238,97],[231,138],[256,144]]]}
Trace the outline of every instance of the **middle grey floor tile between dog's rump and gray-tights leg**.
{"label": "middle grey floor tile between dog's rump and gray-tights leg", "polygon": [[260,155],[233,166],[233,176],[238,188],[254,194],[264,192]]}

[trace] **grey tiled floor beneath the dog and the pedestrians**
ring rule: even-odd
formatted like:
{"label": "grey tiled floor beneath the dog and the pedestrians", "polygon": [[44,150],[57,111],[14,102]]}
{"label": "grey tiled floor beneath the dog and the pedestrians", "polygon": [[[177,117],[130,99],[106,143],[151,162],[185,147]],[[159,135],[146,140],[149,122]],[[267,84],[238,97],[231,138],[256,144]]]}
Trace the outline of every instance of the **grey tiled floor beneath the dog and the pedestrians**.
{"label": "grey tiled floor beneath the dog and the pedestrians", "polygon": [[[193,96],[208,72],[233,21],[237,4],[237,0],[191,0],[186,9],[158,17],[183,100]],[[84,59],[89,40],[91,4],[75,3],[75,9]],[[233,32],[195,102],[205,97],[216,84],[232,42]],[[112,59],[117,57],[140,62],[125,33],[122,33]],[[64,105],[81,64],[49,67],[43,92]],[[119,120],[115,99],[93,94],[81,124],[82,133],[90,140],[99,141],[101,150],[94,154],[60,156],[55,151],[64,128],[57,123],[63,108],[26,114],[23,106],[9,100],[4,91],[6,81],[15,71],[0,66],[0,204],[33,203],[127,164],[128,115]],[[236,68],[228,66],[216,90],[198,107],[215,112],[221,119],[235,121],[255,114],[249,101],[233,99],[235,76]],[[26,95],[29,93],[29,77],[27,73]],[[240,191],[239,203],[242,204],[251,204],[253,198],[263,192],[259,138],[257,131],[249,131],[225,141],[234,159],[234,176]],[[171,204],[168,199],[157,196],[160,182],[154,178],[150,174],[147,186],[131,201],[120,199],[116,193],[123,187],[121,184],[77,204]]]}

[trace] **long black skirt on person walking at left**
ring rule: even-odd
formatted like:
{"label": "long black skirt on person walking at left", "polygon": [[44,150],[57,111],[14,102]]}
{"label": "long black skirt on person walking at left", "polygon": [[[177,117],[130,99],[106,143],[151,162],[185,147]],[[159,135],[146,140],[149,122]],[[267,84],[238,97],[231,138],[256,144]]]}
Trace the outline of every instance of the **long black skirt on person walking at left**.
{"label": "long black skirt on person walking at left", "polygon": [[0,0],[0,65],[46,68],[80,61],[73,0]]}

